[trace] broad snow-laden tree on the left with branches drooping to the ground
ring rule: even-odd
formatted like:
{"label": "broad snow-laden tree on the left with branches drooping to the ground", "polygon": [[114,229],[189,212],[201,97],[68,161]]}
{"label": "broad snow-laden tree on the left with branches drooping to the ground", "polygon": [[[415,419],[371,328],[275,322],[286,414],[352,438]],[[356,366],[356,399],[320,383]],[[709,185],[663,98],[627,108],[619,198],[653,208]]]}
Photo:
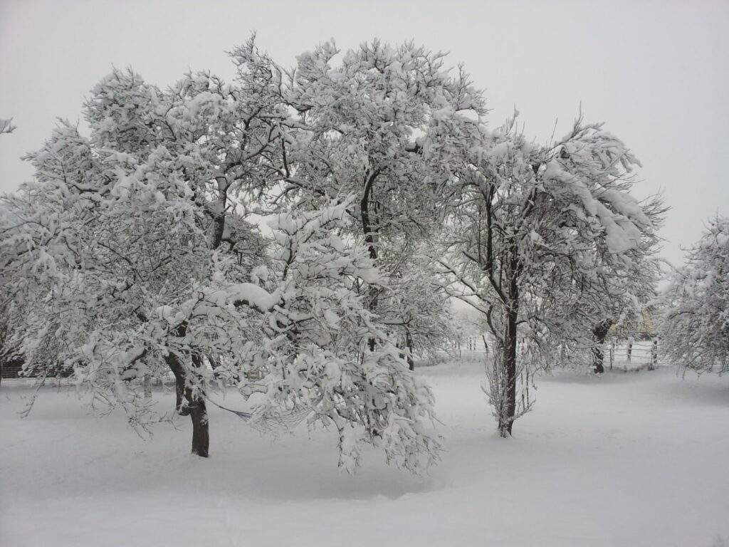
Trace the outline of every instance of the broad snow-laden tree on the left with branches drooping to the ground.
{"label": "broad snow-laden tree on the left with branches drooping to the ground", "polygon": [[246,372],[264,369],[262,414],[316,401],[344,468],[370,442],[418,471],[439,448],[432,395],[357,294],[383,278],[340,236],[353,198],[295,203],[257,255],[263,240],[241,214],[285,171],[297,120],[253,42],[238,54],[231,85],[203,72],[160,90],[114,71],[87,101],[89,138],[62,123],[28,155],[36,181],[3,198],[0,228],[1,275],[27,311],[12,346],[28,373],[51,354],[141,427],[149,408],[133,380],[171,371],[200,456],[211,389],[249,395]]}

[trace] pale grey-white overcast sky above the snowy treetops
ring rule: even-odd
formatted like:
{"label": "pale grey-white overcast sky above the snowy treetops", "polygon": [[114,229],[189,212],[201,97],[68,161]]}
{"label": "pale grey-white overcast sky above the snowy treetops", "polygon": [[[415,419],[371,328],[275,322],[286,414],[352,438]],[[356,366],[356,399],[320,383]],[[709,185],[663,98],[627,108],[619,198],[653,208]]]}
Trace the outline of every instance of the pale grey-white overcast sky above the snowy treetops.
{"label": "pale grey-white overcast sky above the snowy treetops", "polygon": [[[394,5],[393,5],[394,4]],[[0,0],[0,191],[31,178],[20,155],[56,117],[80,120],[112,65],[166,86],[188,68],[233,74],[225,55],[250,31],[279,63],[334,37],[451,52],[486,88],[490,125],[514,106],[539,141],[582,111],[642,160],[639,198],[663,190],[664,255],[729,214],[729,1],[112,1]]]}

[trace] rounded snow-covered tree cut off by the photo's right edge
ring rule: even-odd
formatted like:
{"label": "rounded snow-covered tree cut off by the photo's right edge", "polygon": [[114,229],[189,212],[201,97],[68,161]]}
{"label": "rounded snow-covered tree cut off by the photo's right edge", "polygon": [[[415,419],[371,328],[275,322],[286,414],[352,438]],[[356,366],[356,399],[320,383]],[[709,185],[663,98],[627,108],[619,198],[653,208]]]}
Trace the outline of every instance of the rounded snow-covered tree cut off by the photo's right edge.
{"label": "rounded snow-covered tree cut off by the photo's right edge", "polygon": [[684,370],[729,371],[729,218],[709,220],[663,292],[667,357]]}

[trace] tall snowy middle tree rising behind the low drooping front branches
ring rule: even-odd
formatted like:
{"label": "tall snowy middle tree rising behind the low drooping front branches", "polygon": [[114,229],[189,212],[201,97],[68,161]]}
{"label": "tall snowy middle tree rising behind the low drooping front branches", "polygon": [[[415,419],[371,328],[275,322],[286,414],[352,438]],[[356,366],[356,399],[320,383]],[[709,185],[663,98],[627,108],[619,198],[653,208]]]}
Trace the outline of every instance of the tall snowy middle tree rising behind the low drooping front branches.
{"label": "tall snowy middle tree rising behind the low drooping front branches", "polygon": [[[247,48],[233,52],[241,66],[249,56]],[[300,55],[290,71],[268,58],[257,62],[297,113],[281,129],[283,161],[268,163],[270,202],[354,195],[347,235],[367,245],[391,281],[361,287],[368,309],[386,317],[410,349],[442,340],[443,291],[432,283],[413,287],[428,276],[418,249],[440,230],[438,193],[451,176],[455,143],[469,139],[486,114],[480,91],[464,71],[446,69],[443,53],[413,43],[375,40],[341,53],[327,42]]]}

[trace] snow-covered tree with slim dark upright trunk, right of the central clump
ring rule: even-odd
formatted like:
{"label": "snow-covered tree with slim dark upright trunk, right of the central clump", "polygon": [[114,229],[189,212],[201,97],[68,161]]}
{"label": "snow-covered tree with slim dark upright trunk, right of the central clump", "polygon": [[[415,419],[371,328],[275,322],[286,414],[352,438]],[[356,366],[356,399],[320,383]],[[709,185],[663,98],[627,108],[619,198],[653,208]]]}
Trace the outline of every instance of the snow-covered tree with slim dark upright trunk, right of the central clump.
{"label": "snow-covered tree with slim dark upright trunk, right of the central clump", "polygon": [[487,391],[502,436],[529,409],[535,369],[590,346],[593,325],[612,313],[603,302],[639,274],[634,254],[655,244],[656,209],[630,194],[636,163],[581,120],[547,147],[510,120],[482,129],[464,154],[441,265],[451,294],[483,312],[494,336]]}

